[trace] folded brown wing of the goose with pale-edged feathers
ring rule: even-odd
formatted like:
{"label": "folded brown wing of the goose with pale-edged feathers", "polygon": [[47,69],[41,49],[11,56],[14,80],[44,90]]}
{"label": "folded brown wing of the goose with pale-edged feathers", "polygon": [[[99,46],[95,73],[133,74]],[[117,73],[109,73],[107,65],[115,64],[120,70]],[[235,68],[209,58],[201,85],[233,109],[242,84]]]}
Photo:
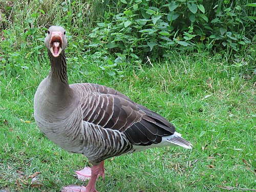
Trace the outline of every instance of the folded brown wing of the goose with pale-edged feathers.
{"label": "folded brown wing of the goose with pale-edged feathers", "polygon": [[173,135],[175,127],[161,115],[135,103],[120,92],[98,84],[73,84],[82,93],[83,120],[103,128],[118,130],[131,144],[160,143]]}

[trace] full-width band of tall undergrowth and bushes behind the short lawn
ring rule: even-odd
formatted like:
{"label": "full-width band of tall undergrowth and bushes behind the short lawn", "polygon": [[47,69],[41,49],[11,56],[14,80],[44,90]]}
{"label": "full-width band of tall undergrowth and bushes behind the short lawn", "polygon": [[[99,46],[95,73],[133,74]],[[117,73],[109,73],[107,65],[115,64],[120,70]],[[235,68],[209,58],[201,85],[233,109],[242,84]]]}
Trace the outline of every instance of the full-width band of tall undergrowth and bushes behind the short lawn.
{"label": "full-width band of tall undergrowth and bushes behind the short lawn", "polygon": [[[70,32],[71,54],[87,51],[108,63],[102,69],[112,66],[118,74],[125,61],[161,59],[173,51],[223,51],[227,59],[242,55],[253,60],[255,5],[252,0],[1,2],[0,68],[27,69],[18,64],[21,57],[40,54],[44,30],[51,25]],[[24,51],[31,44],[38,47]]]}

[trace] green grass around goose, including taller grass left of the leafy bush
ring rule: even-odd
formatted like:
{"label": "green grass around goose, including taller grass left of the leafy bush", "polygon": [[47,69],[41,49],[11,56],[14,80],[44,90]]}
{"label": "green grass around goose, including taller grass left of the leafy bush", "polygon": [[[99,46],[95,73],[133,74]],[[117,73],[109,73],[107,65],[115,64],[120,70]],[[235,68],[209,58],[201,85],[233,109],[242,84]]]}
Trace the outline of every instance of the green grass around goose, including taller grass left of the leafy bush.
{"label": "green grass around goose, including taller grass left of the leafy bush", "polygon": [[[47,1],[34,2],[13,3],[15,10],[6,9],[6,19],[0,25],[6,28],[0,32],[1,192],[58,191],[70,184],[87,184],[73,175],[74,170],[88,166],[88,160],[53,144],[38,130],[33,117],[34,93],[50,69],[43,44],[48,24],[68,26],[70,83],[92,82],[114,88],[167,118],[193,143],[191,151],[153,148],[106,160],[105,180],[98,179],[98,191],[224,190],[220,186],[256,189],[253,62],[226,61],[225,53],[212,56],[173,51],[153,65],[124,61],[111,66],[117,53],[84,50],[90,30],[86,29],[90,19],[83,9],[86,3],[67,1],[67,5],[54,7]],[[0,10],[10,4],[0,4]],[[39,9],[45,10],[48,20]],[[36,177],[40,185],[28,178],[36,172],[40,172]]]}

